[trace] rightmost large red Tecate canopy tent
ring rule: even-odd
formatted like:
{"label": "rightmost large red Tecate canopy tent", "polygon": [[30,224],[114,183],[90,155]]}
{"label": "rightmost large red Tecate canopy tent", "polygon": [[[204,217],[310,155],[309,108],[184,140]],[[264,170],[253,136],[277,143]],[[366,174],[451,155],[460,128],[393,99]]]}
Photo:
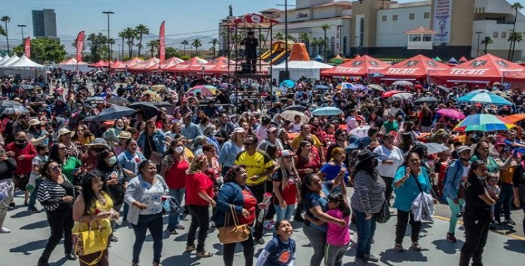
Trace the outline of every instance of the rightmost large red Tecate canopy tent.
{"label": "rightmost large red Tecate canopy tent", "polygon": [[448,83],[525,82],[525,67],[486,54],[450,69],[433,72],[430,76]]}

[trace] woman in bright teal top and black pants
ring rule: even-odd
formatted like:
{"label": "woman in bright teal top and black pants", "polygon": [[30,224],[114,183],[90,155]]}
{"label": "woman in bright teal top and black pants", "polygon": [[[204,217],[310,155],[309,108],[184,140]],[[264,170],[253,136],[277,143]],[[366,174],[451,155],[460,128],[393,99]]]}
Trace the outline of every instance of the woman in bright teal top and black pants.
{"label": "woman in bright teal top and black pants", "polygon": [[[421,232],[421,221],[414,221],[414,214],[410,211],[412,202],[421,193],[430,193],[430,180],[426,169],[421,166],[421,157],[418,153],[409,151],[405,158],[406,166],[399,167],[393,181],[395,191],[395,202],[393,207],[398,209],[398,222],[395,228],[395,246],[394,250],[403,252],[402,240],[405,237],[407,223],[412,228],[412,245],[414,251],[421,251],[419,245],[419,232]],[[421,188],[421,189],[420,189]],[[410,221],[409,221],[410,219]]]}

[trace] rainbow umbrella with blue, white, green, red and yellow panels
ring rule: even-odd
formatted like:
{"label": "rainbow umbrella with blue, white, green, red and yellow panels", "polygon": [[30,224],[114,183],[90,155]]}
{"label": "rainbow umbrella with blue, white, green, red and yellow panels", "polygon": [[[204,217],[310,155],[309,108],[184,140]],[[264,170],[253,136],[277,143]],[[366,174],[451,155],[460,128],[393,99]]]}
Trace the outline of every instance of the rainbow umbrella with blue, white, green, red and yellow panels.
{"label": "rainbow umbrella with blue, white, green, red and yellow panels", "polygon": [[489,113],[467,116],[456,127],[455,131],[482,131],[491,132],[498,130],[510,130],[515,125],[506,123],[503,118]]}

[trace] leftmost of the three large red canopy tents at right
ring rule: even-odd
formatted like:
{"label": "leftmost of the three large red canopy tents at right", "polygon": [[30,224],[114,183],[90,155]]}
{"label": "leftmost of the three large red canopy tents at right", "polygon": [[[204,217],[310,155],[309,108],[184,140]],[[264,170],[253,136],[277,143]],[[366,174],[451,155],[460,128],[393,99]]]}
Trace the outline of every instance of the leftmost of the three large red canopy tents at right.
{"label": "leftmost of the three large red canopy tents at right", "polygon": [[334,68],[321,71],[321,76],[368,76],[372,73],[377,73],[381,69],[386,69],[388,66],[390,64],[370,55],[363,55],[339,64],[339,66]]}

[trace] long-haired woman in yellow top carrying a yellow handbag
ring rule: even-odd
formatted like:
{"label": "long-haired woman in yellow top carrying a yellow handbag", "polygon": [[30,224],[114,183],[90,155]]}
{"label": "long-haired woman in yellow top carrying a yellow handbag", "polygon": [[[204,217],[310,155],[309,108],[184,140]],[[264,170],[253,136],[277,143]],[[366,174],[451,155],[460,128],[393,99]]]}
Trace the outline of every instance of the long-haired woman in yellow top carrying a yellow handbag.
{"label": "long-haired woman in yellow top carrying a yellow handbag", "polygon": [[[106,185],[106,176],[102,173],[90,172],[82,183],[82,193],[73,204],[73,220],[79,223],[89,223],[92,228],[108,228],[102,230],[103,236],[112,232],[110,219],[117,219],[120,214],[113,209],[113,200],[103,191]],[[98,213],[97,213],[98,210]],[[80,225],[78,225],[80,226]],[[80,266],[109,266],[108,247],[102,254],[99,252],[81,255],[78,258]]]}

